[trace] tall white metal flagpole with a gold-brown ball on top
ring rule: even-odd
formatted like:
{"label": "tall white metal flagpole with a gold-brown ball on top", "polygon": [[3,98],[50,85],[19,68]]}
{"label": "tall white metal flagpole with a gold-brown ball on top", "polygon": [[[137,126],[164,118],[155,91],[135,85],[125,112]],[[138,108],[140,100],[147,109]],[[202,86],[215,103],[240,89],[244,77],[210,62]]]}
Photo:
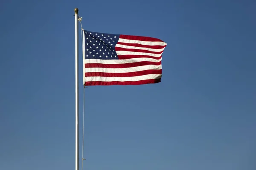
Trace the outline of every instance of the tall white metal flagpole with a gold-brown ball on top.
{"label": "tall white metal flagpole with a gold-brown ball on top", "polygon": [[78,8],[75,8],[76,170],[79,170]]}

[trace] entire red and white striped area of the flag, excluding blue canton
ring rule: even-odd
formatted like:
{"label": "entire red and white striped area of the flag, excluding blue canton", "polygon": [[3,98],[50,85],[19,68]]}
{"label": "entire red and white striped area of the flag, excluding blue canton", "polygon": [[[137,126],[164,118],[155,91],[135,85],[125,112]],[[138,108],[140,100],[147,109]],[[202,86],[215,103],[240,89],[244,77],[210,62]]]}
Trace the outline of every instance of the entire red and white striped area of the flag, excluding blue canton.
{"label": "entire red and white striped area of the flag, excluding blue canton", "polygon": [[119,59],[84,59],[84,85],[141,85],[162,77],[162,53],[167,43],[157,38],[120,35]]}

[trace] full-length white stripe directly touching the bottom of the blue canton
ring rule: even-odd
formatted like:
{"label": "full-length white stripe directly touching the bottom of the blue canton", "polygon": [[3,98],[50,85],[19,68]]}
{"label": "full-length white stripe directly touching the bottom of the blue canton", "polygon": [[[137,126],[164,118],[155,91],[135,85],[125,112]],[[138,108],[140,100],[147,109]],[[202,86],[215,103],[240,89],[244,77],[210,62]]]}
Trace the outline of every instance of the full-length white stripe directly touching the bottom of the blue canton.
{"label": "full-length white stripe directly touching the bottom of the blue canton", "polygon": [[101,64],[125,64],[125,63],[133,63],[133,62],[160,62],[160,59],[151,59],[151,58],[132,58],[132,59],[84,59],[84,63],[101,63]]}

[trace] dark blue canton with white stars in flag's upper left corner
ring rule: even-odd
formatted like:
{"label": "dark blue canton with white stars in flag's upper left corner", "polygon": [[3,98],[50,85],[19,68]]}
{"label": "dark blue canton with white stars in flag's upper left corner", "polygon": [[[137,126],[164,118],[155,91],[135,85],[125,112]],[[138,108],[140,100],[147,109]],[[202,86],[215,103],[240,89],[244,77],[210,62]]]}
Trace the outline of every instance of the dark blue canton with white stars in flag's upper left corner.
{"label": "dark blue canton with white stars in flag's upper left corner", "polygon": [[115,46],[118,34],[105,34],[84,30],[85,59],[118,59]]}

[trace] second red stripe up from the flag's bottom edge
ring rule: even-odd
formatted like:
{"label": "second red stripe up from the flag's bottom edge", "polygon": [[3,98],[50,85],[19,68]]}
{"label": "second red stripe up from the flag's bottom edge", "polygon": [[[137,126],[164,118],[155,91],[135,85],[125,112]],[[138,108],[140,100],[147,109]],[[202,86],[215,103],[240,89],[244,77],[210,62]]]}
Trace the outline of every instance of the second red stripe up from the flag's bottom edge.
{"label": "second red stripe up from the flag's bottom edge", "polygon": [[162,74],[162,69],[160,70],[143,70],[129,73],[102,73],[102,72],[89,72],[84,73],[85,77],[135,77],[143,76],[147,74]]}

